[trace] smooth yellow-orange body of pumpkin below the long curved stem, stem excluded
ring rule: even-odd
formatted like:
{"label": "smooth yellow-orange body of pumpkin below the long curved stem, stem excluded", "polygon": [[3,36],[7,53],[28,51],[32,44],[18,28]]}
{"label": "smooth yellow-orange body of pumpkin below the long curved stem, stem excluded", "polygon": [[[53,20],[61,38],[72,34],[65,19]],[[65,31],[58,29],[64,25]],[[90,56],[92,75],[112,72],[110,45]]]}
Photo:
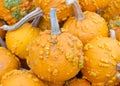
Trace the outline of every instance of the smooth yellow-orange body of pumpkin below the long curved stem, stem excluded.
{"label": "smooth yellow-orange body of pumpkin below the long curved stem, stem excluded", "polygon": [[31,40],[39,35],[40,30],[30,23],[25,23],[19,29],[6,33],[7,48],[21,59],[25,59],[26,47]]}

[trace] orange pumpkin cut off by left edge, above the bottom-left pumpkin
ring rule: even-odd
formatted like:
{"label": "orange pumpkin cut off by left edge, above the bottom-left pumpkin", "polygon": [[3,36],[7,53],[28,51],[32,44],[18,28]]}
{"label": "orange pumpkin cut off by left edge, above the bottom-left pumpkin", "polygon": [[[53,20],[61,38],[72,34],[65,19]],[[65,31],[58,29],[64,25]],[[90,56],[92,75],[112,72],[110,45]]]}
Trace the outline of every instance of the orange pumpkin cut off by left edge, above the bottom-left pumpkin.
{"label": "orange pumpkin cut off by left edge, above the bottom-left pumpkin", "polygon": [[18,69],[20,62],[10,51],[4,47],[0,47],[0,80],[3,74]]}

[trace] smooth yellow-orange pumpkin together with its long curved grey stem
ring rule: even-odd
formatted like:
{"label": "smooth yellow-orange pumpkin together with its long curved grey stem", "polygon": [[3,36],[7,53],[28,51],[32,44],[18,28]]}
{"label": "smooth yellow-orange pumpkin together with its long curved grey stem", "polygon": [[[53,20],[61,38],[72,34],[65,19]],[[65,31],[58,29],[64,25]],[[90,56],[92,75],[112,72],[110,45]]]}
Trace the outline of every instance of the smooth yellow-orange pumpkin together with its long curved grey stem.
{"label": "smooth yellow-orange pumpkin together with its long curved grey stem", "polygon": [[[19,56],[21,59],[25,59],[27,54],[26,52],[27,45],[31,40],[36,38],[40,32],[39,28],[33,27],[33,25],[30,23],[24,24],[24,22],[28,21],[32,17],[35,17],[35,15],[39,15],[40,13],[41,13],[40,9],[36,8],[36,10],[31,12],[29,15],[25,16],[22,20],[17,22],[14,26],[4,25],[1,27],[2,29],[12,30],[12,31],[7,31],[6,33],[6,37],[5,37],[6,45],[7,45],[7,48],[12,53]],[[17,29],[17,30],[14,30],[14,29]]]}

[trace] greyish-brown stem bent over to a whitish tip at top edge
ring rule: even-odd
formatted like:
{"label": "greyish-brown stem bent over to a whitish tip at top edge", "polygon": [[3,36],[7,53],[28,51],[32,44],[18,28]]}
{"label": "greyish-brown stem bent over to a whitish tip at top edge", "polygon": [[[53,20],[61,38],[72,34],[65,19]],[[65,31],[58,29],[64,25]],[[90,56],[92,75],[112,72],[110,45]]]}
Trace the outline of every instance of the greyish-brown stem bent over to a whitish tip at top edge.
{"label": "greyish-brown stem bent over to a whitish tip at top edge", "polygon": [[85,15],[82,12],[81,6],[78,4],[76,0],[66,0],[66,4],[73,5],[75,17],[78,21],[85,19]]}

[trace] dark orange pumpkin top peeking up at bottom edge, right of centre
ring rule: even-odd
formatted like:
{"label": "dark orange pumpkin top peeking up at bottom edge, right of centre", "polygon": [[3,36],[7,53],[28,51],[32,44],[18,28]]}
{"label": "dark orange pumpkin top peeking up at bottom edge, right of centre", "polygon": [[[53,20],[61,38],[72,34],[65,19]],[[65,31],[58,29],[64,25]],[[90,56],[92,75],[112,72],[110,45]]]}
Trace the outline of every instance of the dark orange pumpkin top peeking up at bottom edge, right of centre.
{"label": "dark orange pumpkin top peeking up at bottom edge, right of centre", "polygon": [[69,86],[91,86],[85,79],[74,78],[69,82]]}

